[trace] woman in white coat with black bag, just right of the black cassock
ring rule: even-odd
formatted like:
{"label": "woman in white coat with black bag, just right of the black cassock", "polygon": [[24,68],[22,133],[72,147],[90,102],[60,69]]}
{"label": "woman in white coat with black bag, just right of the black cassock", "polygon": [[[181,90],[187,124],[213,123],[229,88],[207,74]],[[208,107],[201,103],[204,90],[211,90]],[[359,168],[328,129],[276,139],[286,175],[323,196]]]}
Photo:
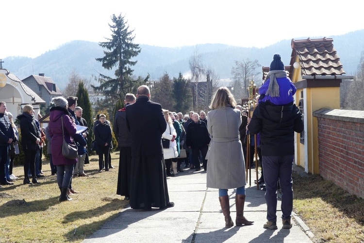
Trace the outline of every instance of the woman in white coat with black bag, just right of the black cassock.
{"label": "woman in white coat with black bag, just right of the black cassock", "polygon": [[[175,138],[177,137],[177,132],[173,127],[172,119],[169,116],[168,110],[163,109],[163,113],[165,115],[165,120],[167,121],[167,128],[165,132],[162,134],[162,139],[169,140],[169,147],[163,147],[163,157],[165,159],[165,167],[167,176],[172,176],[178,174],[177,173],[177,162],[172,162],[172,159],[178,157],[177,150],[177,142]],[[171,174],[171,165],[173,167],[173,174]]]}

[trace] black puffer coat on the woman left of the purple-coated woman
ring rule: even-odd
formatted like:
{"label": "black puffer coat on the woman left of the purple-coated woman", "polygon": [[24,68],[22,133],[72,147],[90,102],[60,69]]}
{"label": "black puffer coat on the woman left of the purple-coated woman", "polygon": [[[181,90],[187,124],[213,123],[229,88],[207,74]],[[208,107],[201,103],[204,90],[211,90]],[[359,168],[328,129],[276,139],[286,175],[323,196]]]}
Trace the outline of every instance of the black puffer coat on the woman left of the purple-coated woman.
{"label": "black puffer coat on the woman left of the purple-coated woman", "polygon": [[36,144],[37,138],[41,139],[41,133],[35,124],[34,116],[23,112],[17,116],[20,121],[20,132],[21,132],[21,146],[23,149],[29,149],[31,151],[39,150],[39,145]]}

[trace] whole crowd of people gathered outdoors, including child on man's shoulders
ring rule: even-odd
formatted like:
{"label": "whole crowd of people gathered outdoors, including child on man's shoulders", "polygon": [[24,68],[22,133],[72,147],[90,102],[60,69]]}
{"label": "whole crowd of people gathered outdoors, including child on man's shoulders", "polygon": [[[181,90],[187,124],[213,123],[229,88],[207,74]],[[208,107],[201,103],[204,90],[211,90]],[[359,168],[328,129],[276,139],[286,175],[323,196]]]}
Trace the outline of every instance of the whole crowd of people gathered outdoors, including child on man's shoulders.
{"label": "whole crowd of people gathered outdoors, including child on man's shoulders", "polygon": [[[191,111],[183,115],[152,102],[149,87],[142,85],[138,87],[136,96],[125,96],[125,107],[116,112],[114,128],[102,113],[94,123],[99,172],[115,168],[111,165],[110,155],[114,130],[120,149],[116,194],[129,199],[132,209],[150,211],[152,208],[173,207],[166,178],[182,173],[184,163],[184,168],[195,171],[203,168],[207,172],[207,187],[219,189],[218,199],[225,227],[234,225],[229,189],[235,190],[236,226],[251,225],[254,222],[244,216],[245,158],[250,153],[248,164],[252,167],[251,155],[258,146],[262,177],[257,183],[265,183],[266,189],[268,221],[264,227],[277,228],[276,190],[279,182],[283,194],[283,228],[291,228],[293,134],[303,130],[301,113],[293,100],[295,92],[279,54],[273,57],[251,118],[248,111],[237,105],[226,87],[217,89],[209,107],[211,111],[207,114]],[[82,118],[82,108],[77,106],[77,97],[56,97],[53,102],[55,107],[50,109],[50,122],[46,129],[39,127],[31,105],[25,105],[23,113],[17,116],[20,142],[25,153],[23,183],[40,183],[37,178],[42,176],[41,151],[47,139],[51,173],[57,175],[61,192],[59,201],[70,201],[69,195],[78,193],[72,188],[72,177],[88,176],[84,172],[84,164],[88,162],[86,142],[89,129]],[[148,117],[148,122],[145,122],[145,117]],[[85,129],[78,131],[80,127]],[[6,104],[2,101],[0,130],[0,184],[11,185],[17,178],[12,174],[12,163],[18,153],[19,136],[13,116],[6,112]],[[251,135],[250,141],[247,141],[247,134]],[[76,143],[76,159],[65,157],[62,152],[64,141]],[[10,152],[13,150],[14,153]]]}

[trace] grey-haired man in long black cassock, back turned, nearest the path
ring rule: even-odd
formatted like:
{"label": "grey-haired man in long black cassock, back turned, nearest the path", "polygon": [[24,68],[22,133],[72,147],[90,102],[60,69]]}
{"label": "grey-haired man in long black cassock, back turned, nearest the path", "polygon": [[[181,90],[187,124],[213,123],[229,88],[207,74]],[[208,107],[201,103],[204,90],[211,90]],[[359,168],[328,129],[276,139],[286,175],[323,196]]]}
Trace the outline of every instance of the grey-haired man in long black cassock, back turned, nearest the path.
{"label": "grey-haired man in long black cassock, back turned, nearest the path", "polygon": [[147,211],[173,207],[163,159],[162,133],[167,122],[162,106],[150,101],[146,85],[138,87],[136,97],[136,102],[125,109],[132,146],[130,206]]}

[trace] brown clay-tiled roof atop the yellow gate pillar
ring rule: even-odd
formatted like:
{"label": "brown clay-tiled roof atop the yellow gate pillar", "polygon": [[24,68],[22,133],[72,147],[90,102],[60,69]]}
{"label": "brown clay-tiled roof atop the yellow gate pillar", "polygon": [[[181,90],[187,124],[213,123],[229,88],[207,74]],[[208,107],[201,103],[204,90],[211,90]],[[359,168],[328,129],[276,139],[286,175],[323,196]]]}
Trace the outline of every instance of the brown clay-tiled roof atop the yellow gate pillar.
{"label": "brown clay-tiled roof atop the yellow gate pillar", "polygon": [[343,75],[345,71],[340,62],[331,38],[292,39],[291,72],[298,57],[302,75]]}

